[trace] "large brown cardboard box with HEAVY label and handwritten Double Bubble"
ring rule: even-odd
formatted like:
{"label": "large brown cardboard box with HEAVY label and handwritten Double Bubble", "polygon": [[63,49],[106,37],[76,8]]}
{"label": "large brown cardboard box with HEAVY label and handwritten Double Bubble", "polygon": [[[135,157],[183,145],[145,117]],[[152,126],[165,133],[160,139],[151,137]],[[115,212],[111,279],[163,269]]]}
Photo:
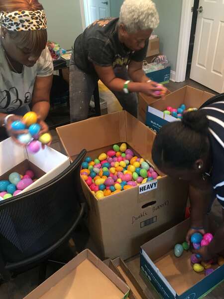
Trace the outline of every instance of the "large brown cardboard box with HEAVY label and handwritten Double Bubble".
{"label": "large brown cardboard box with HEAVY label and handwritten Double Bubble", "polygon": [[[57,133],[72,160],[81,149],[94,159],[125,142],[152,162],[155,134],[126,111],[60,127]],[[97,200],[83,178],[81,182],[89,204],[89,230],[104,259],[127,259],[147,240],[183,220],[188,187],[179,180],[162,175],[103,200]]]}

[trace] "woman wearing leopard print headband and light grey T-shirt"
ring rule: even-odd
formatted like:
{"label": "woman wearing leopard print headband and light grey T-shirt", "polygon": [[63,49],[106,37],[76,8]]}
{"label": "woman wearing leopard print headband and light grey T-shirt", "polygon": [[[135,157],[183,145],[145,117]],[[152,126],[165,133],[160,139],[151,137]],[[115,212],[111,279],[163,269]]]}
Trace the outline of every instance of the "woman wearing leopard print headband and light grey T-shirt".
{"label": "woman wearing leopard print headband and light grey T-shirt", "polygon": [[50,108],[53,63],[46,29],[38,0],[0,0],[0,125],[16,143],[16,135],[23,132],[16,134],[11,123],[30,107],[39,117],[40,133],[48,131],[44,120]]}

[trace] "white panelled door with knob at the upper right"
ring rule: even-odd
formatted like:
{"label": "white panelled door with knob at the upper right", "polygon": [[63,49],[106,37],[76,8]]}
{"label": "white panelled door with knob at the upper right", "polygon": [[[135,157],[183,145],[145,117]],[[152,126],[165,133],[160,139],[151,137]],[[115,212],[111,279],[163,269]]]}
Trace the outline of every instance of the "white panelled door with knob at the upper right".
{"label": "white panelled door with knob at the upper right", "polygon": [[190,78],[224,92],[224,0],[200,0]]}

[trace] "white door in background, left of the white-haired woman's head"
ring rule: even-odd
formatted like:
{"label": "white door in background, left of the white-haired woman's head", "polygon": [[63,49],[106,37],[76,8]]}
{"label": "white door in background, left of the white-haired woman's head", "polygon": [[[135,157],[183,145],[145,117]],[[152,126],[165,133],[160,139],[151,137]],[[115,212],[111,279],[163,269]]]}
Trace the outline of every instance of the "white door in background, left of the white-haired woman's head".
{"label": "white door in background, left of the white-haired woman's head", "polygon": [[89,24],[111,16],[111,0],[87,0]]}

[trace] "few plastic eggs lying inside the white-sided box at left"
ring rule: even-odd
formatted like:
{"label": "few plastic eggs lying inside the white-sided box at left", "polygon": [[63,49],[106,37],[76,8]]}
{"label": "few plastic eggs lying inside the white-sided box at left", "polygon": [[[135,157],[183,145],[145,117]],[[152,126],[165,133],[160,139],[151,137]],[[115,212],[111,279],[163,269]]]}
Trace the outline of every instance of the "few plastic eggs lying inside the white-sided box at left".
{"label": "few plastic eggs lying inside the white-sided box at left", "polygon": [[18,172],[10,173],[8,180],[0,180],[0,199],[18,195],[35,181],[34,176],[32,170],[27,170],[24,175],[20,175]]}

